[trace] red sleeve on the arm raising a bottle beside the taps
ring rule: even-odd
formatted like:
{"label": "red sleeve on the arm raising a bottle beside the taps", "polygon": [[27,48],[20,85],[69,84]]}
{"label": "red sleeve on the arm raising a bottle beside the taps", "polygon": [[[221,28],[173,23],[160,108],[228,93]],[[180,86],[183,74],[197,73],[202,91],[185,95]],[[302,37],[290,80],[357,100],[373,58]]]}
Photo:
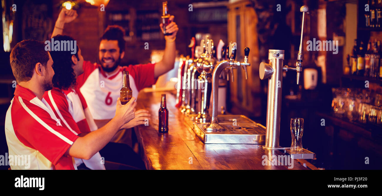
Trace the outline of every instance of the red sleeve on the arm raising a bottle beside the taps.
{"label": "red sleeve on the arm raising a bottle beside the taps", "polygon": [[138,91],[141,91],[157,82],[157,79],[154,78],[154,67],[155,64],[147,63],[130,65],[124,67],[124,70],[129,71],[129,74],[134,78]]}

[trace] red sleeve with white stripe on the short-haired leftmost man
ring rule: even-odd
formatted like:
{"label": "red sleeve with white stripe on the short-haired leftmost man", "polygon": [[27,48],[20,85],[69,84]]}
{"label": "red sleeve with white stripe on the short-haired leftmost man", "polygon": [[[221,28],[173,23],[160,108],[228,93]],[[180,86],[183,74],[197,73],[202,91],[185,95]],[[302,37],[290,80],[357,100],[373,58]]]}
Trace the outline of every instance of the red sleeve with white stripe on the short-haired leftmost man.
{"label": "red sleeve with white stripe on the short-haired leftmost man", "polygon": [[26,100],[21,104],[18,96],[15,98],[11,115],[17,138],[56,165],[78,136],[57,125],[44,109]]}

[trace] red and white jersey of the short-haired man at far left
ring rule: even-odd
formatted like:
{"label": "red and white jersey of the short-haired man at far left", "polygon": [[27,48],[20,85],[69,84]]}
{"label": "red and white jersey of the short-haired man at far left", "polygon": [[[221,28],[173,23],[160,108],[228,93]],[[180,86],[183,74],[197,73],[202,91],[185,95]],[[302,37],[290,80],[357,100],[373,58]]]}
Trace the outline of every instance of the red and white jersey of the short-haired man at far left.
{"label": "red and white jersey of the short-haired man at far left", "polygon": [[[29,169],[77,169],[65,152],[78,136],[61,125],[44,98],[19,85],[6,112],[5,137],[9,156],[30,157]],[[28,169],[15,164],[11,169]]]}

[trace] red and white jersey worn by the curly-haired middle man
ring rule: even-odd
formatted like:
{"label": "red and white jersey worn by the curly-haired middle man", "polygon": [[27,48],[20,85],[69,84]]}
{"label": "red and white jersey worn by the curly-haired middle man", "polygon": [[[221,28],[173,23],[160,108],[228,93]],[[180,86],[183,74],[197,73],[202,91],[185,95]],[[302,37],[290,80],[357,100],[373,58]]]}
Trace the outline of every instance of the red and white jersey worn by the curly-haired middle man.
{"label": "red and white jersey worn by the curly-haired middle man", "polygon": [[[44,99],[53,109],[55,115],[59,117],[61,124],[74,134],[97,130],[97,125],[95,125],[86,101],[78,88],[61,90],[54,87],[44,93]],[[74,160],[77,166],[84,163],[86,167],[93,170],[105,169],[99,152],[89,160],[79,158],[74,158]]]}

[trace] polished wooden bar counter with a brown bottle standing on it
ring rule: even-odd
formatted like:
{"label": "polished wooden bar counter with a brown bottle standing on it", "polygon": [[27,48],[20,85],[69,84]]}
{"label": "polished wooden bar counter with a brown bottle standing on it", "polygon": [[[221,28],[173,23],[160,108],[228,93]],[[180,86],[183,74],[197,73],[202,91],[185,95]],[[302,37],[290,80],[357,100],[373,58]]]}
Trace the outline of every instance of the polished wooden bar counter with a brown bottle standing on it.
{"label": "polished wooden bar counter with a brown bottle standing on it", "polygon": [[[166,94],[168,133],[158,132],[160,96]],[[286,170],[288,165],[271,165],[272,155],[284,155],[278,150],[265,150],[258,144],[204,144],[184,123],[183,114],[175,107],[175,96],[169,91],[144,92],[138,95],[138,109],[151,113],[149,126],[135,128],[140,153],[147,169],[167,170]],[[267,165],[262,165],[268,157]],[[297,160],[293,168],[306,170]]]}

